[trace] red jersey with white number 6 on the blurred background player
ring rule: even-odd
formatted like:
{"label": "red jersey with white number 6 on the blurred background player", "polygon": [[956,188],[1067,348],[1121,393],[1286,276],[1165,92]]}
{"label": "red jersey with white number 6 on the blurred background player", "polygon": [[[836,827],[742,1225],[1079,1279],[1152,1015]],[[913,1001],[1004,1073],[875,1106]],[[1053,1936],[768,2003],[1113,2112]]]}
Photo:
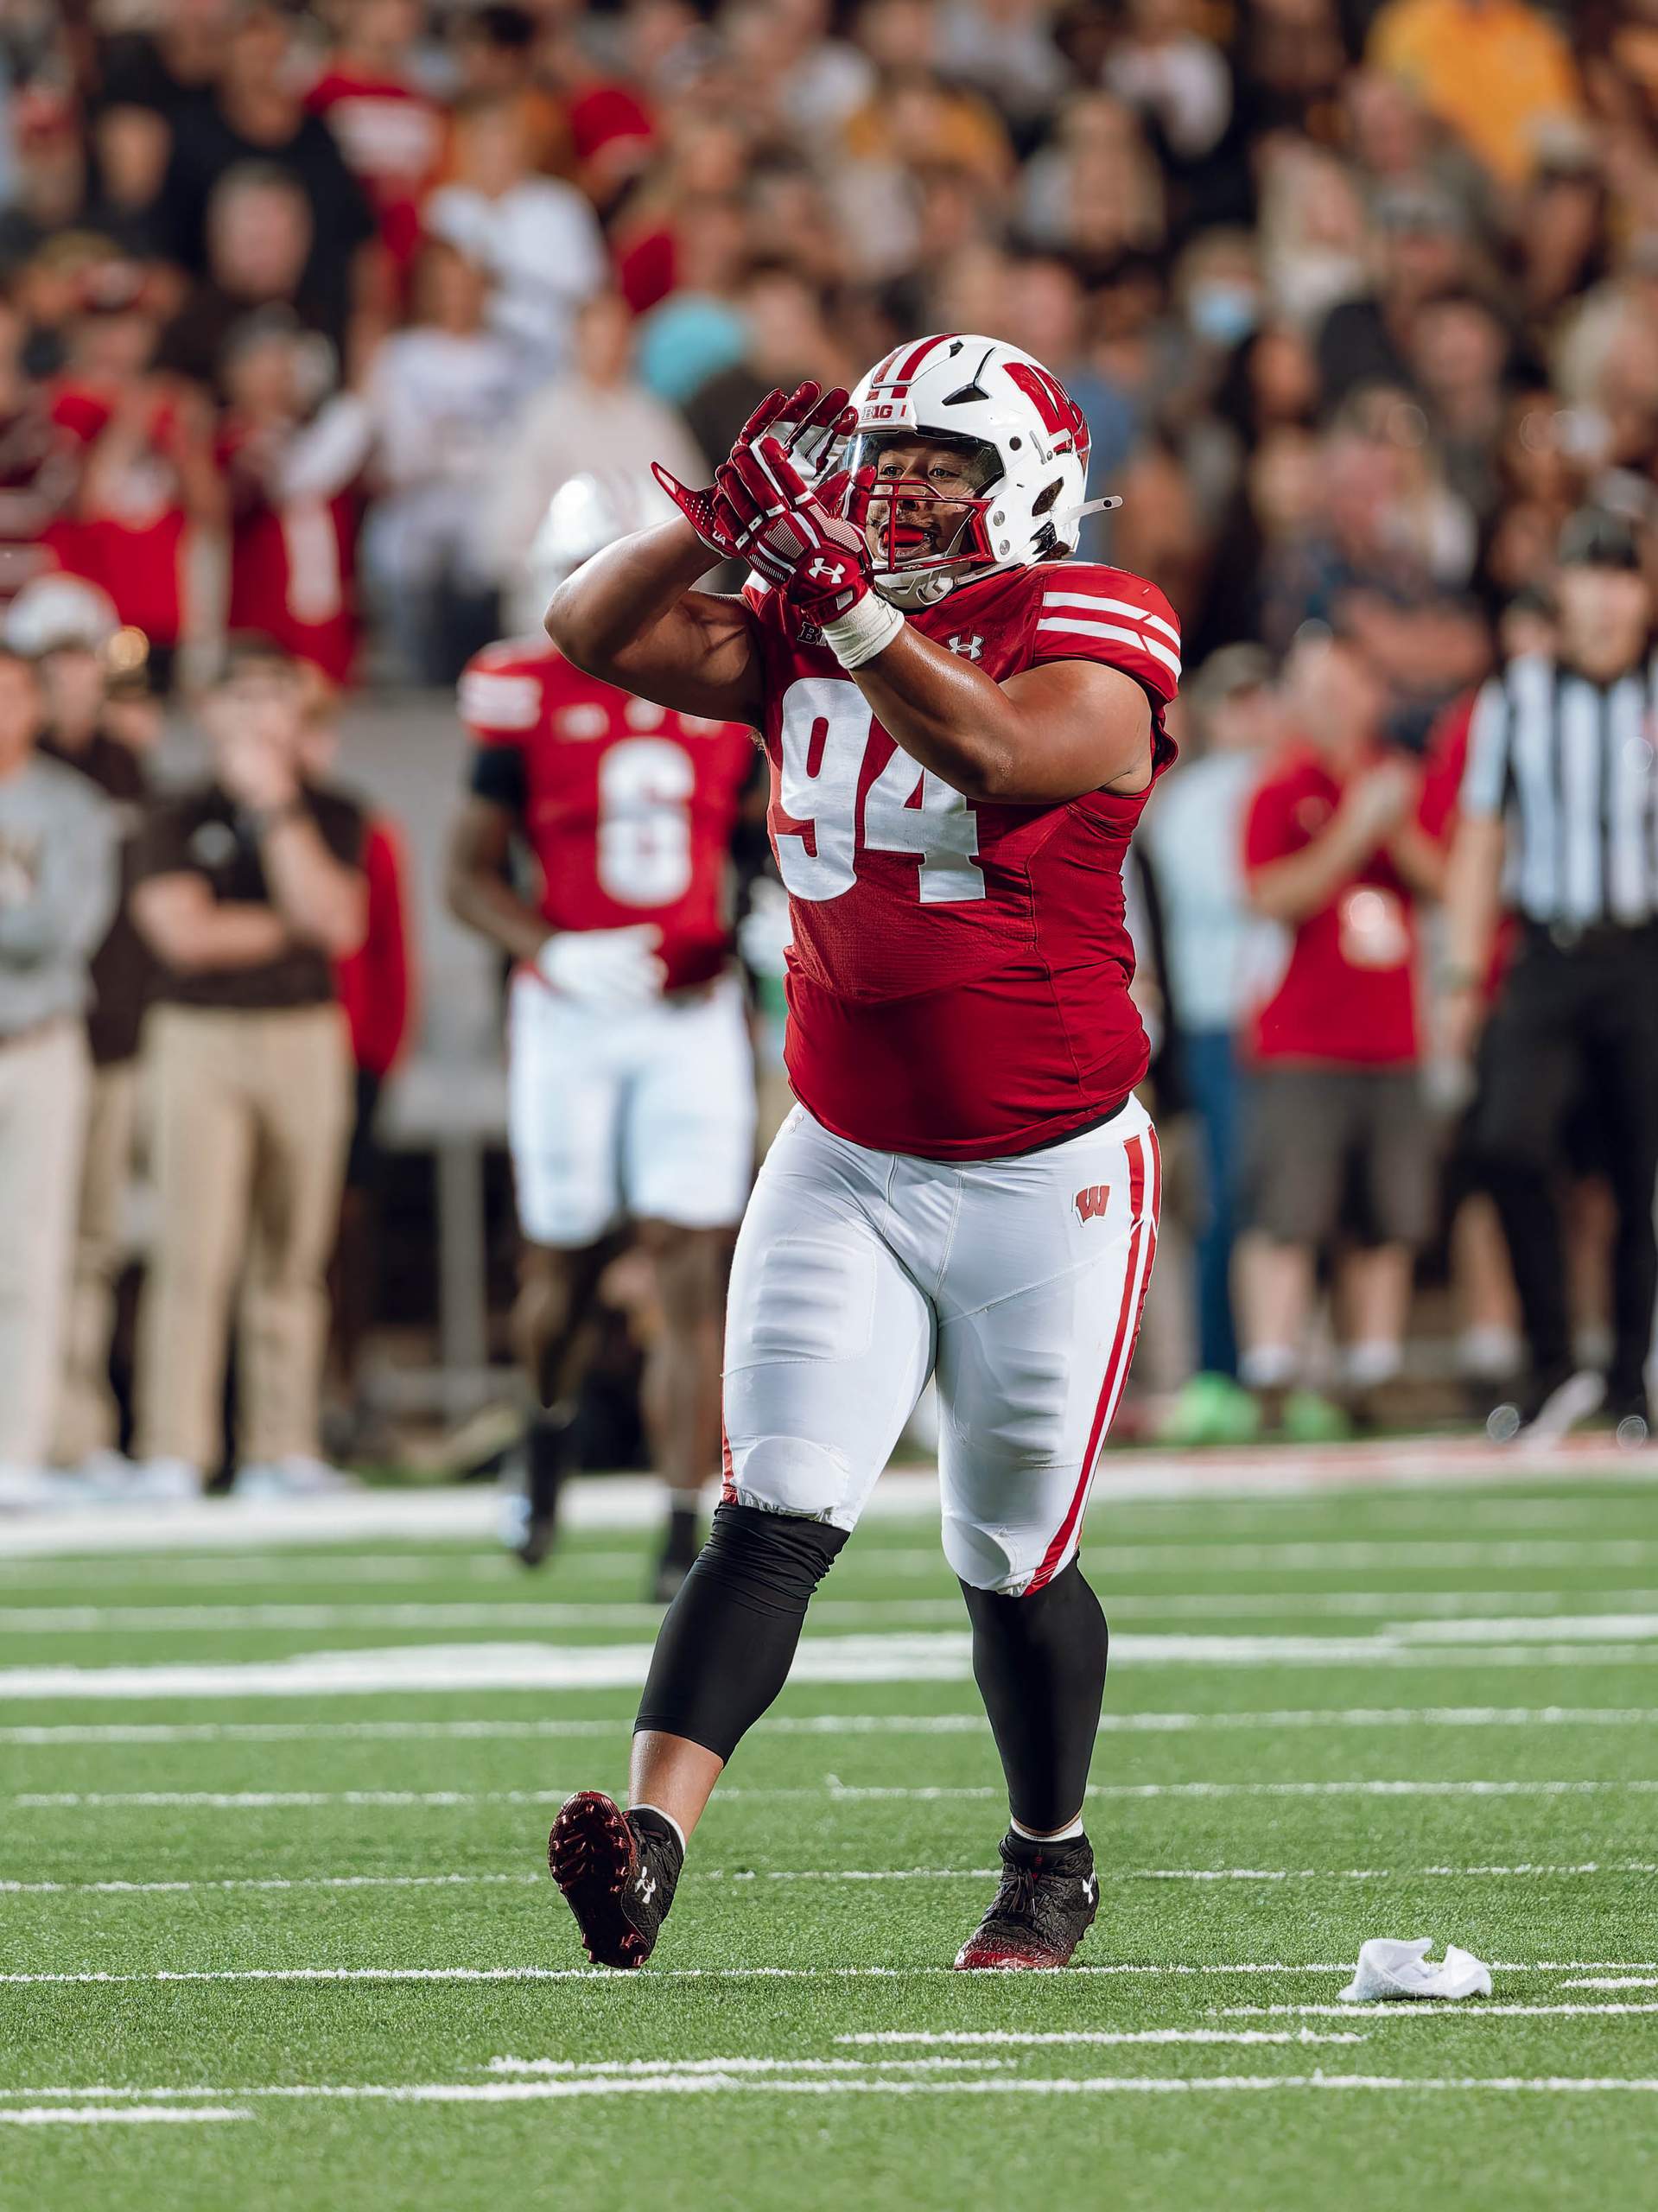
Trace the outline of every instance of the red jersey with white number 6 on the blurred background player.
{"label": "red jersey with white number 6 on the blurred background player", "polygon": [[508,805],[542,872],[550,929],[654,922],[668,989],[707,982],[732,947],[727,858],[754,739],[632,699],[553,646],[486,646],[460,679],[473,790]]}

